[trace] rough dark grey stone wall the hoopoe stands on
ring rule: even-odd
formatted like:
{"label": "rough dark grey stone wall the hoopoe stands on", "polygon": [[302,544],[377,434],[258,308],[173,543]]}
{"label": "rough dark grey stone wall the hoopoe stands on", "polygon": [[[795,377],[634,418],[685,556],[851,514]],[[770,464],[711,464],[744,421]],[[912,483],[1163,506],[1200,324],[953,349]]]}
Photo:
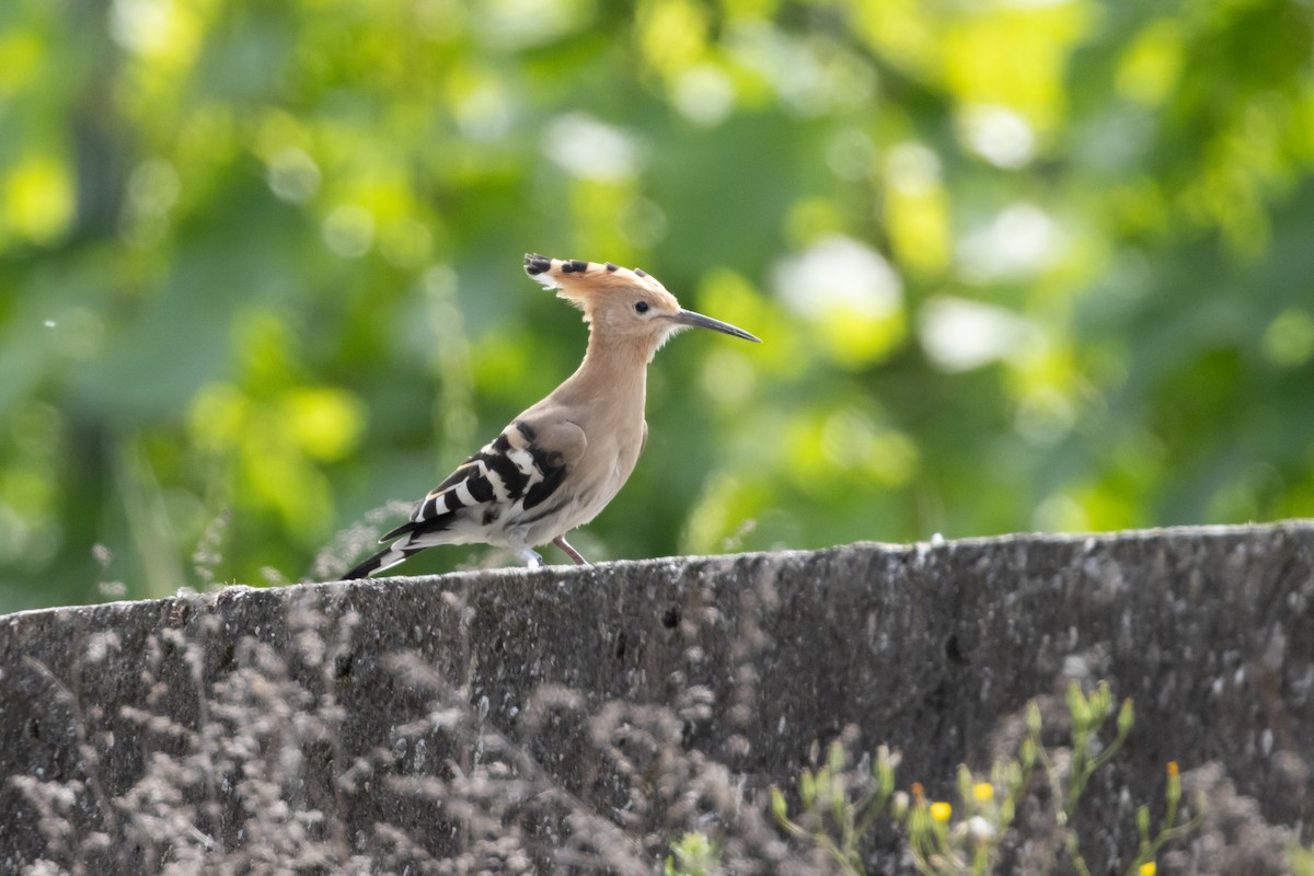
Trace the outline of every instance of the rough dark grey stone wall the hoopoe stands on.
{"label": "rough dark grey stone wall the hoopoe stands on", "polygon": [[[323,617],[298,620],[298,604]],[[326,644],[306,645],[311,630]],[[279,654],[296,657],[279,668]],[[405,654],[432,676],[399,668]],[[258,674],[242,675],[243,667],[264,667],[267,680],[252,682]],[[250,722],[256,738],[268,738],[260,718],[294,728],[297,714],[319,709],[319,730],[304,732],[300,746],[306,763],[288,764],[297,788],[280,781],[294,808],[327,813],[342,827],[307,830],[332,834],[344,856],[372,855],[369,831],[399,825],[440,858],[473,842],[468,818],[442,797],[484,759],[497,759],[485,746],[501,745],[512,774],[530,776],[531,788],[557,788],[566,808],[582,801],[599,823],[627,825],[643,806],[654,809],[665,792],[643,776],[668,768],[622,758],[620,743],[603,758],[600,735],[660,737],[652,728],[668,724],[674,742],[657,739],[649,753],[674,745],[723,768],[742,806],[759,806],[756,791],[769,783],[792,787],[817,747],[848,725],[861,730],[861,749],[886,742],[903,751],[901,785],[921,780],[947,793],[959,763],[988,767],[1001,721],[1029,699],[1062,691],[1068,678],[1108,679],[1117,697],[1137,704],[1125,753],[1083,804],[1083,830],[1095,838],[1089,858],[1104,862],[1096,872],[1112,872],[1110,862],[1135,848],[1133,806],[1162,799],[1168,760],[1184,771],[1218,762],[1264,820],[1303,825],[1307,837],[1314,524],[855,544],[227,588],[0,617],[0,872],[43,855],[99,862],[88,872],[181,860],[177,848],[152,850],[133,833],[124,801],[162,755],[175,756],[177,770],[196,767],[185,756],[218,745],[197,742],[197,728],[212,724],[231,737]],[[240,692],[214,692],[234,679],[246,684]],[[283,686],[273,696],[261,692],[268,679]],[[225,709],[242,697],[259,704],[259,714],[234,724]],[[271,703],[286,703],[286,713]],[[428,729],[417,735],[414,722],[424,720]],[[599,759],[612,776],[607,787]],[[372,785],[344,777],[352,764],[364,775],[367,760]],[[223,768],[212,756],[200,774],[179,779],[192,791],[176,808],[213,806],[197,822],[209,833],[194,831],[205,834],[202,846],[248,838],[234,825],[243,823],[250,795],[235,797],[227,780],[196,791]],[[615,780],[616,770],[625,781]],[[407,795],[385,775],[447,784]],[[42,785],[50,799],[55,785],[70,788],[67,812],[51,802],[41,821],[17,776],[53,783]],[[607,795],[619,796],[603,805]],[[660,813],[644,817],[662,823]],[[518,829],[551,846],[551,818],[533,818],[541,823]],[[51,841],[60,820],[74,839]],[[131,848],[124,837],[137,837]],[[762,854],[779,855],[770,842]],[[569,863],[544,854],[532,865]],[[648,869],[658,862],[648,859]]]}

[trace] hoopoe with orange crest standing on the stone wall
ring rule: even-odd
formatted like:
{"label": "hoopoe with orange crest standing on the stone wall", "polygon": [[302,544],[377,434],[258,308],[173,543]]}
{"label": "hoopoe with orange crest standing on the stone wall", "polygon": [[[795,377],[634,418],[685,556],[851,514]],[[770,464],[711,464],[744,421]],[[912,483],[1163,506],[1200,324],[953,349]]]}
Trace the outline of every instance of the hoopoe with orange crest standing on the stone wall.
{"label": "hoopoe with orange crest standing on the stone wall", "polygon": [[742,328],[685,310],[640,269],[611,263],[524,256],[524,271],[583,310],[583,362],[541,402],[419,500],[392,541],[346,578],[390,569],[435,545],[505,546],[530,567],[549,541],[587,561],[566,533],[593,520],[635,470],[648,440],[648,362],[677,331],[699,326],[758,341]]}

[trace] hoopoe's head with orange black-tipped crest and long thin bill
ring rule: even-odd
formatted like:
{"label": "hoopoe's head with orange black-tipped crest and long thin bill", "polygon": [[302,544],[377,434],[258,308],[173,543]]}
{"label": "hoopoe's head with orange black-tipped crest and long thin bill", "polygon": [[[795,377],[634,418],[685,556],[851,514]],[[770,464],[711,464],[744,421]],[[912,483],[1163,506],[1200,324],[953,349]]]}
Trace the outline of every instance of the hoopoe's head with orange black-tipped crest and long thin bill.
{"label": "hoopoe's head with orange black-tipped crest and long thin bill", "polygon": [[668,338],[691,326],[759,340],[742,328],[685,310],[656,277],[637,268],[531,253],[524,256],[524,272],[579,307],[595,340],[632,345],[649,357]]}

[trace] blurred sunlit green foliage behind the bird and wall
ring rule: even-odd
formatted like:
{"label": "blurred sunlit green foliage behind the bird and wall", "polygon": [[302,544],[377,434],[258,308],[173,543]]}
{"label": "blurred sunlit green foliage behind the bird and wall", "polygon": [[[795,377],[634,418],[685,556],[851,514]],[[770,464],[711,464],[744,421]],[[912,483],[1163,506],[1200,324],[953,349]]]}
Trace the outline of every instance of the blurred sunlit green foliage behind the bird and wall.
{"label": "blurred sunlit green foliage behind the bird and wall", "polygon": [[658,355],[595,559],[1311,515],[1311,58],[1301,0],[11,0],[0,611],[309,574],[574,368],[526,251],[766,341]]}

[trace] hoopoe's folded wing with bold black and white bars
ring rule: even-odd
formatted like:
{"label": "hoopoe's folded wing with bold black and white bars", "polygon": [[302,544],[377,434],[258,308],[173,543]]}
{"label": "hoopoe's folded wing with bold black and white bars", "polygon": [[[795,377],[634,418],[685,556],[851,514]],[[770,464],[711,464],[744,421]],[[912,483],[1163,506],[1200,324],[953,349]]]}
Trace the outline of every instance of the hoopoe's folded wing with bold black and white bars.
{"label": "hoopoe's folded wing with bold black and white bars", "polygon": [[[537,422],[535,422],[537,420]],[[516,419],[415,504],[411,519],[380,541],[445,528],[452,515],[520,503],[530,511],[556,494],[589,441],[569,420]]]}

